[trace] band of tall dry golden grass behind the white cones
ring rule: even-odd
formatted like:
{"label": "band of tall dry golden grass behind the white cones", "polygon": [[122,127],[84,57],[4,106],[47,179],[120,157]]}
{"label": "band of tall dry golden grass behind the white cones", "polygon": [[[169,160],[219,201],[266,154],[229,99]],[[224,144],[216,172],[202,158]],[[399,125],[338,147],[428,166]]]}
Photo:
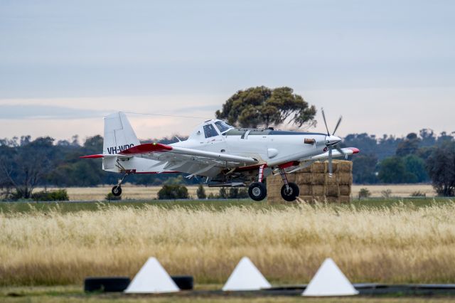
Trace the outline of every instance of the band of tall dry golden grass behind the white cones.
{"label": "band of tall dry golden grass behind the white cones", "polygon": [[332,257],[355,282],[455,282],[455,203],[424,208],[114,208],[0,213],[0,285],[170,274],[225,282],[247,255],[272,282],[309,282]]}

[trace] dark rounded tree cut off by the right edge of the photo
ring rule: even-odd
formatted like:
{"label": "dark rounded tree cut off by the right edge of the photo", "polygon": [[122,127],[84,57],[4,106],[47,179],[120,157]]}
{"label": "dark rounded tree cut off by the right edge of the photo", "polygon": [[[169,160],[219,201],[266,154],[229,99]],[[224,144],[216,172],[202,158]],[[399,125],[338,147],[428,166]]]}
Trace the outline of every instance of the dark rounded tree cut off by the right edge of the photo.
{"label": "dark rounded tree cut off by the right edge of the photo", "polygon": [[446,141],[433,151],[427,171],[440,196],[455,196],[455,142]]}

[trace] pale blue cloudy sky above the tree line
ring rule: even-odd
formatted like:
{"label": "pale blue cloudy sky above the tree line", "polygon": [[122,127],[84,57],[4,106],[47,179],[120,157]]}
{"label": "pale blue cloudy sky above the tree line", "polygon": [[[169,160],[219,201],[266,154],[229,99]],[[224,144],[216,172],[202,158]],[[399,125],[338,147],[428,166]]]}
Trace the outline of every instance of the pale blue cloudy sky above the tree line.
{"label": "pale blue cloudy sky above the tree line", "polygon": [[338,134],[455,131],[455,1],[0,0],[0,138],[188,134],[237,90],[289,86]]}

